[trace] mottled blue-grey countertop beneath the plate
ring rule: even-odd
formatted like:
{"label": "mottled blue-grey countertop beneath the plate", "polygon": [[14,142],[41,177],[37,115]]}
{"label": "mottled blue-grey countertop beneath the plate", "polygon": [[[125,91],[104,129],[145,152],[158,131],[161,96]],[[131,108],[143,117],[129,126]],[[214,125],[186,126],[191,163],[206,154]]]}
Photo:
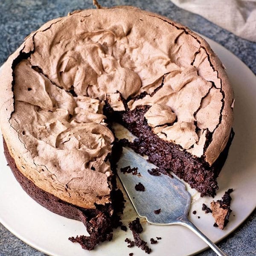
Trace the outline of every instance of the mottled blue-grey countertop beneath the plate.
{"label": "mottled blue-grey countertop beneath the plate", "polygon": [[[169,0],[105,0],[103,6],[133,5],[167,16],[233,52],[256,74],[256,43],[227,32],[204,18],[178,8]],[[26,35],[46,21],[76,9],[93,8],[92,0],[0,0],[0,65],[23,42]],[[255,31],[253,31],[255,33]],[[1,210],[1,209],[0,209]],[[256,211],[218,245],[227,255],[256,255]],[[43,256],[0,224],[0,256]],[[201,256],[215,255],[211,250]]]}

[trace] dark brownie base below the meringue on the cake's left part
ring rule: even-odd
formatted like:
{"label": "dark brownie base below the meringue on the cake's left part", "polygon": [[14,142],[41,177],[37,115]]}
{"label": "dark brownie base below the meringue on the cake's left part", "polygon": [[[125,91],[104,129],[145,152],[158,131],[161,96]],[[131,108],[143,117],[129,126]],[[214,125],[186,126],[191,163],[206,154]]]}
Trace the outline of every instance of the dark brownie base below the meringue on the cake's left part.
{"label": "dark brownie base below the meringue on the cake's left part", "polygon": [[25,177],[17,168],[15,160],[11,156],[6,142],[3,139],[4,154],[16,180],[23,190],[38,204],[58,215],[83,222],[90,236],[77,236],[70,238],[70,241],[79,242],[84,249],[93,250],[96,244],[112,239],[113,228],[120,224],[118,212],[122,212],[123,195],[118,190],[112,191],[112,204],[96,205],[96,209],[85,209],[62,201],[54,195],[40,189],[31,180]]}

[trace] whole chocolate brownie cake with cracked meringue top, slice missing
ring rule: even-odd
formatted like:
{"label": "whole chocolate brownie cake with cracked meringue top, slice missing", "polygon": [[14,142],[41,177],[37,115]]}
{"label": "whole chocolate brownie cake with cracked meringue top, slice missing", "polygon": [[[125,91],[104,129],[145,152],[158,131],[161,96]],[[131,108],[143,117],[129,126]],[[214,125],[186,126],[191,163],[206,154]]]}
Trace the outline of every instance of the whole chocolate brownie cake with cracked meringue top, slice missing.
{"label": "whole chocolate brownie cake with cracked meringue top, slice missing", "polygon": [[233,90],[207,42],[166,17],[118,6],[51,20],[9,57],[0,86],[15,177],[44,207],[103,234],[87,249],[110,240],[117,220],[113,120],[202,196],[218,189]]}

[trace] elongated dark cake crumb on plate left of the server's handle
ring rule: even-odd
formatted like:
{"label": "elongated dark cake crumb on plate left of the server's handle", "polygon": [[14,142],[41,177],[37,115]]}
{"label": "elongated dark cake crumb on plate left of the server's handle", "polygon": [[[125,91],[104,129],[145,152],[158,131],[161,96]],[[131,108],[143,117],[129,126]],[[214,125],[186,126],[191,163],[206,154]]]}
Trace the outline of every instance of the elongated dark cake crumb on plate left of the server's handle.
{"label": "elongated dark cake crumb on plate left of the server's handle", "polygon": [[[140,238],[140,233],[143,231],[143,227],[140,224],[140,219],[136,218],[128,224],[129,229],[132,231],[134,237],[134,244],[145,251],[145,253],[151,253],[151,248],[148,247],[147,242]],[[126,239],[125,239],[126,240]],[[132,241],[131,241],[132,242]]]}

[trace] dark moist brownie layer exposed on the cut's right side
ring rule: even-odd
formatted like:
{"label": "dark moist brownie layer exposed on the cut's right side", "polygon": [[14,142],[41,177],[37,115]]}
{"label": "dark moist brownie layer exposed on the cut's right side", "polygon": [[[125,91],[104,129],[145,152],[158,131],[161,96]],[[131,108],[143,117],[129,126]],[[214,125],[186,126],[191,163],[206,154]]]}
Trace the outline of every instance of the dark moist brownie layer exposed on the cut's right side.
{"label": "dark moist brownie layer exposed on the cut's right side", "polygon": [[162,140],[154,134],[144,118],[144,114],[149,108],[150,106],[139,106],[133,111],[113,112],[107,106],[106,113],[112,120],[118,120],[138,137],[133,143],[122,140],[123,145],[128,145],[137,153],[146,154],[151,163],[167,172],[175,173],[175,175],[189,183],[192,188],[200,192],[201,196],[209,195],[213,197],[216,195],[218,189],[216,178],[227,158],[233,140],[233,131],[224,151],[221,152],[215,163],[209,166],[203,158],[193,157],[188,152],[182,151],[179,145]]}

